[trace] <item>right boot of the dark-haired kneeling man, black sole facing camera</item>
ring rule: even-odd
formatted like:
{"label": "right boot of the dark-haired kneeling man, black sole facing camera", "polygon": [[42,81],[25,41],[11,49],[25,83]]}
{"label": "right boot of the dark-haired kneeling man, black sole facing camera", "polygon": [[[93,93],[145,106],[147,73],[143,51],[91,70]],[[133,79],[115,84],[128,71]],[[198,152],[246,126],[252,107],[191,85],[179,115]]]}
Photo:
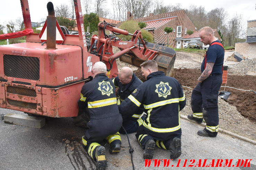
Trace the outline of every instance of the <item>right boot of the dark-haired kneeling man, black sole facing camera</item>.
{"label": "right boot of the dark-haired kneeling man, black sole facing camera", "polygon": [[171,140],[169,145],[169,150],[171,152],[170,159],[176,159],[181,155],[181,139],[175,137]]}

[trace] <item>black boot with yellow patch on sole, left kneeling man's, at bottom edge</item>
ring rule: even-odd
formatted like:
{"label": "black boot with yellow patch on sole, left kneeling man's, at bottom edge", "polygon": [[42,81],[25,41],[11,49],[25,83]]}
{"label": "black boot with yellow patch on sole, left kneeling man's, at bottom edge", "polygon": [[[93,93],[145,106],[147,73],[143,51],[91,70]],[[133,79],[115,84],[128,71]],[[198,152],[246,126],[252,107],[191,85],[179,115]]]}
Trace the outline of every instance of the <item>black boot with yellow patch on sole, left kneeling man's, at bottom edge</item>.
{"label": "black boot with yellow patch on sole, left kneeling man's, at bottom edge", "polygon": [[106,150],[103,146],[99,146],[95,152],[96,158],[96,169],[97,170],[105,170],[107,169],[107,161],[105,159]]}

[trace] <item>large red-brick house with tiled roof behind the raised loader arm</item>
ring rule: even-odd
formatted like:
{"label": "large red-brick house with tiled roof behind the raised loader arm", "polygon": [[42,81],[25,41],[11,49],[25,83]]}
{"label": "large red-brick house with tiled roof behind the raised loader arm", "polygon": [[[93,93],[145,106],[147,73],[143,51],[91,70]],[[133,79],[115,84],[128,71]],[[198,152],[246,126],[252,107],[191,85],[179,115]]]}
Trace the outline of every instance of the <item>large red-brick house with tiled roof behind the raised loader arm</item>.
{"label": "large red-brick house with tiled roof behind the raised loader arm", "polygon": [[[133,19],[133,15],[128,12],[127,20]],[[138,22],[147,23],[145,30],[148,30],[154,37],[155,43],[167,44],[173,48],[181,48],[182,43],[179,39],[187,35],[187,30],[196,31],[194,23],[188,17],[184,10],[161,13],[157,15],[149,14],[148,17],[134,19]],[[173,32],[166,33],[165,27],[173,28]]]}

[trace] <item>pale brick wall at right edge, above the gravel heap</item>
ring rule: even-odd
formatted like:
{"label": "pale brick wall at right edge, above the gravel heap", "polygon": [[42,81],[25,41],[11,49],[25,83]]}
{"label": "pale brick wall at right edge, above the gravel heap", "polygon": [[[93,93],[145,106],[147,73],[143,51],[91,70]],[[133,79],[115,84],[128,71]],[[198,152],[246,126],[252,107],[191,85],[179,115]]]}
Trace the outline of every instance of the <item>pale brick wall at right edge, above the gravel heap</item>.
{"label": "pale brick wall at right edge, above the gravel heap", "polygon": [[253,43],[236,43],[235,52],[243,55],[243,57],[256,58],[256,42]]}

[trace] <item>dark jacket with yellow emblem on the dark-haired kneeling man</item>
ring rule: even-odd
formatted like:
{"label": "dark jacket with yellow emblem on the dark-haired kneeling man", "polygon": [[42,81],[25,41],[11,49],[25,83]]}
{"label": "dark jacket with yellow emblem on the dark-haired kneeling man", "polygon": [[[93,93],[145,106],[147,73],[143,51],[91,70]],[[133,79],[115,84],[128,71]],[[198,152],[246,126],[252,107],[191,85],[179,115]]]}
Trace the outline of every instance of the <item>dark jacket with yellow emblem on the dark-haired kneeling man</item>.
{"label": "dark jacket with yellow emblem on the dark-haired kneeling man", "polygon": [[185,95],[179,82],[162,71],[148,75],[147,81],[118,105],[122,115],[133,112],[143,105],[147,117],[143,128],[156,140],[168,140],[181,135],[179,111],[186,105]]}

